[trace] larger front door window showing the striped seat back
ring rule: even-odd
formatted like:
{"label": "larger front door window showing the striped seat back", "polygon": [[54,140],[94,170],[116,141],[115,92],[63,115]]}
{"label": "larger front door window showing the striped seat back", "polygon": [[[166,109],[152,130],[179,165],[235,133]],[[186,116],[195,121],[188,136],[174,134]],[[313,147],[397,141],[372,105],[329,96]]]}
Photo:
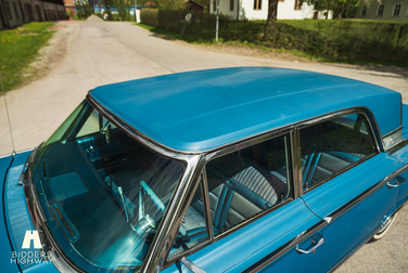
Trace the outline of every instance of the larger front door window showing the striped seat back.
{"label": "larger front door window showing the striped seat back", "polygon": [[206,165],[215,236],[292,197],[289,155],[282,135]]}

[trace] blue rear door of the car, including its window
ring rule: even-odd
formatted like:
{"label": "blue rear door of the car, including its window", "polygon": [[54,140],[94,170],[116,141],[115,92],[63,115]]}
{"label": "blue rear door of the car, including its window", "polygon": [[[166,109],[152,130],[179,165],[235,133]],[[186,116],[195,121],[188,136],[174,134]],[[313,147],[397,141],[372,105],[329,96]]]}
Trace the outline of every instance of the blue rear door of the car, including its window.
{"label": "blue rear door of the car, including its window", "polygon": [[328,225],[320,271],[341,264],[367,242],[396,204],[404,165],[381,153],[362,112],[298,127],[305,204]]}

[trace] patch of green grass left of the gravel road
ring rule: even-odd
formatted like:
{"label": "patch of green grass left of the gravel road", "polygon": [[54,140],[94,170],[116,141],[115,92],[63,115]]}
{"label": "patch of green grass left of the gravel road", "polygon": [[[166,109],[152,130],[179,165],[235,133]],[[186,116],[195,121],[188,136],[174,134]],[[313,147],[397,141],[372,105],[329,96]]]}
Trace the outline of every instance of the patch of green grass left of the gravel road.
{"label": "patch of green grass left of the gravel road", "polygon": [[[52,37],[54,23],[30,23],[0,31],[0,72],[5,91],[22,83],[24,69]],[[2,90],[0,90],[2,92]]]}

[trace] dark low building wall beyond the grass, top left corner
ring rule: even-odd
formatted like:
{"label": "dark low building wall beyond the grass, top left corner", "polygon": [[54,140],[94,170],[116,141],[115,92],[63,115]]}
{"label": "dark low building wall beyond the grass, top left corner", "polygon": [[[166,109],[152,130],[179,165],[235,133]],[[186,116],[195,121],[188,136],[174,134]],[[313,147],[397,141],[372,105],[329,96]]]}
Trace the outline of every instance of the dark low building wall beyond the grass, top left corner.
{"label": "dark low building wall beyond the grass, top left corner", "polygon": [[[14,4],[15,8],[14,9]],[[11,18],[7,15],[10,6]],[[39,0],[0,0],[0,29],[15,28],[30,22],[65,20],[62,4]]]}

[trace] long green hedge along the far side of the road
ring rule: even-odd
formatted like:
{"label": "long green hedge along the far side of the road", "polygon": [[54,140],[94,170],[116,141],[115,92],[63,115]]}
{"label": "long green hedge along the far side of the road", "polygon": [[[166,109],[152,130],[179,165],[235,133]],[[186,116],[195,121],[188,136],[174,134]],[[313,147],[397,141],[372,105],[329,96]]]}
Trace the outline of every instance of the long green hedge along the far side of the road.
{"label": "long green hedge along the far side of the road", "polygon": [[[187,13],[192,14],[183,39],[213,42],[216,16],[194,11],[142,10],[143,24],[180,34]],[[258,47],[284,49],[330,60],[354,60],[364,62],[392,62],[408,64],[408,24],[347,20],[277,21],[265,36],[265,21],[230,21],[219,17],[219,38],[228,44],[246,41]],[[399,29],[405,32],[399,39]],[[239,42],[241,44],[241,42]],[[395,60],[394,60],[395,58]]]}

